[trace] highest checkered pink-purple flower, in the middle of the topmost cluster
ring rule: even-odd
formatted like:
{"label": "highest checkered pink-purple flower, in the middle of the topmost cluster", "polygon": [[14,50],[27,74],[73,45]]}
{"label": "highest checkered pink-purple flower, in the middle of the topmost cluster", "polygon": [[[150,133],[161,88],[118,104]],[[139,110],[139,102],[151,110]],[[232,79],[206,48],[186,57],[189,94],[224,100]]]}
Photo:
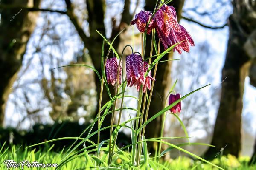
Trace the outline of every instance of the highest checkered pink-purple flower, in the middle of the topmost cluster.
{"label": "highest checkered pink-purple flower, in the middle of the topmost cluster", "polygon": [[177,21],[177,15],[173,6],[163,5],[155,14],[155,21],[157,27],[162,31],[165,37],[168,37],[171,33],[171,29],[176,32],[181,32],[179,23]]}

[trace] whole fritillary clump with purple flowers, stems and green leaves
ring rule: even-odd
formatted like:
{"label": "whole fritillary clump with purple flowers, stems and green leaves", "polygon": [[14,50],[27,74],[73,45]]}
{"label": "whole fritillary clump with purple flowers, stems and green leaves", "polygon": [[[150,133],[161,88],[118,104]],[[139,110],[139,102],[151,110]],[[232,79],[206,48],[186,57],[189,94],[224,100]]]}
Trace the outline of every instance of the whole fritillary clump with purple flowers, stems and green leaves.
{"label": "whole fritillary clump with purple flowers, stems and green leaves", "polygon": [[[169,0],[168,2],[170,2]],[[194,156],[197,159],[200,159],[201,161],[207,162],[208,164],[211,164],[212,166],[218,167],[215,164],[210,163],[209,161],[206,161],[199,156],[196,156],[193,153],[190,153],[187,150],[184,150],[174,144],[168,143],[163,141],[163,139],[173,139],[173,138],[184,138],[184,137],[163,137],[163,131],[164,131],[164,123],[166,118],[166,113],[170,111],[169,113],[173,113],[173,115],[178,119],[180,122],[180,125],[182,126],[186,138],[189,137],[186,132],[186,128],[181,121],[181,119],[178,117],[175,113],[180,113],[181,111],[181,100],[189,96],[190,94],[194,93],[195,91],[200,90],[201,88],[198,88],[195,91],[190,92],[189,94],[186,94],[185,96],[181,97],[180,94],[176,94],[173,91],[173,88],[175,87],[175,84],[172,86],[172,88],[169,91],[169,94],[166,97],[166,105],[165,108],[163,108],[161,111],[155,113],[152,117],[148,119],[148,112],[151,102],[151,97],[153,93],[154,88],[154,81],[157,81],[156,73],[157,73],[157,65],[159,60],[165,56],[166,54],[170,52],[177,51],[179,54],[181,54],[182,50],[189,52],[189,46],[194,46],[194,41],[192,40],[192,37],[189,35],[189,33],[186,31],[186,29],[181,26],[177,21],[176,11],[172,6],[168,6],[162,1],[156,6],[154,11],[140,11],[140,13],[136,14],[135,19],[131,21],[131,24],[136,24],[138,30],[142,33],[142,55],[139,52],[133,52],[132,54],[126,56],[125,58],[125,68],[126,68],[126,76],[124,78],[123,76],[123,66],[122,66],[122,51],[121,56],[118,55],[116,50],[113,48],[112,44],[113,42],[109,42],[102,34],[97,31],[101,37],[104,39],[104,42],[107,42],[110,46],[108,50],[108,54],[105,57],[104,55],[104,42],[102,45],[102,58],[101,58],[101,68],[102,68],[102,77],[100,76],[99,72],[89,65],[84,65],[86,67],[92,68],[93,71],[96,72],[98,75],[100,81],[101,81],[101,88],[100,88],[100,97],[99,97],[99,107],[98,107],[98,114],[94,121],[84,130],[84,132],[76,139],[76,141],[72,144],[72,146],[69,147],[67,152],[65,153],[64,161],[61,162],[60,167],[64,166],[69,162],[70,160],[73,160],[78,156],[85,156],[86,164],[85,168],[83,169],[132,169],[132,170],[158,170],[160,169],[168,169],[164,165],[159,163],[159,159],[161,156],[163,156],[170,148],[176,148],[178,150],[181,150],[190,156]],[[145,59],[145,40],[147,38],[147,35],[152,34],[152,40],[151,40],[151,48],[150,48],[150,55],[147,56],[147,59]],[[158,46],[156,45],[155,35],[158,36]],[[162,43],[165,51],[160,53],[160,44]],[[155,56],[152,56],[153,49],[155,49],[156,54]],[[109,52],[113,51],[116,54],[116,57],[108,58]],[[154,58],[155,57],[155,58]],[[105,59],[104,59],[105,58]],[[153,60],[153,62],[152,62]],[[164,61],[163,61],[164,62]],[[151,75],[151,69],[154,68],[154,74]],[[106,74],[105,74],[106,73]],[[152,84],[151,84],[152,82]],[[110,93],[108,85],[114,86],[114,96]],[[137,91],[139,91],[139,97],[135,96],[125,96],[125,87],[132,87],[134,86]],[[206,85],[207,86],[207,85]],[[204,86],[204,87],[206,87]],[[106,88],[108,95],[110,96],[110,101],[102,105],[102,93],[103,88]],[[202,88],[204,88],[202,87]],[[149,95],[147,94],[148,90]],[[121,91],[121,92],[120,92]],[[143,98],[144,96],[144,98]],[[169,99],[168,99],[169,96]],[[130,97],[135,98],[138,101],[137,109],[135,108],[123,108],[124,104],[124,98]],[[117,100],[121,99],[121,105],[120,108],[116,108]],[[167,105],[168,104],[168,105]],[[112,111],[109,111],[112,108]],[[126,120],[125,122],[121,123],[121,116],[123,110],[133,110],[136,111],[136,117],[131,118],[129,113],[128,116],[130,119]],[[116,111],[119,111],[119,117],[117,124],[114,125],[114,119],[115,119],[115,113]],[[107,127],[101,127],[102,122],[105,119],[105,116],[108,114],[111,114],[111,125]],[[145,139],[145,128],[148,123],[153,121],[154,119],[157,119],[157,117],[162,116],[162,124],[161,124],[161,132],[160,137],[157,138],[149,138]],[[95,125],[95,123],[98,122],[98,130],[95,132],[92,132],[92,128]],[[135,122],[135,125],[133,124]],[[130,126],[126,126],[127,123],[130,123]],[[131,144],[128,144],[124,147],[119,148],[116,145],[116,139],[119,130],[122,127],[128,127],[131,129]],[[100,141],[100,132],[102,130],[110,128],[110,136],[108,140]],[[114,129],[115,128],[115,129]],[[89,130],[90,129],[90,130]],[[81,138],[81,136],[87,132],[87,136],[84,138]],[[97,143],[93,143],[90,141],[90,137],[97,134]],[[42,142],[48,143],[53,142],[60,139],[53,139],[52,141]],[[67,138],[65,138],[67,139]],[[68,139],[74,139],[73,137],[70,137]],[[75,145],[75,143],[81,140],[78,144]],[[90,142],[91,145],[86,146],[85,142]],[[147,142],[157,142],[158,148],[156,148],[157,152],[155,152],[155,158],[151,159],[149,157],[149,153],[147,150]],[[162,153],[161,144],[164,143],[168,145],[170,148],[164,150]],[[72,154],[78,148],[83,144],[84,148],[77,151],[76,154]],[[189,142],[190,144],[190,142]],[[199,143],[197,143],[199,144]],[[35,144],[38,145],[38,144]],[[33,146],[35,146],[33,145]],[[107,145],[104,147],[104,145]],[[186,144],[184,144],[186,145]],[[207,144],[202,144],[207,145]],[[208,145],[211,146],[212,145]],[[72,148],[73,147],[73,148]],[[96,147],[93,149],[90,149],[92,147]],[[131,153],[128,151],[125,152],[125,149],[128,149],[131,147]],[[90,149],[90,150],[89,150]],[[143,150],[143,152],[142,152]],[[68,152],[69,151],[69,152]],[[101,154],[100,151],[103,151]],[[91,154],[91,153],[96,153]],[[115,160],[116,161],[115,161]],[[117,161],[121,160],[121,161]],[[125,163],[121,163],[124,161]],[[220,167],[218,167],[220,168]],[[221,168],[220,168],[221,169]]]}

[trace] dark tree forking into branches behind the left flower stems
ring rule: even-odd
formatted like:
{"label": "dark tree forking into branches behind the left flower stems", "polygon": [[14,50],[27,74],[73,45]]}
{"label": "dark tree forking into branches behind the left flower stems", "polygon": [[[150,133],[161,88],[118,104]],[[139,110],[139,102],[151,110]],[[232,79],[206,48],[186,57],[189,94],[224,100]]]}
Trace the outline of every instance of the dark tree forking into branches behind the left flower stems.
{"label": "dark tree forking into branches behind the left flower stems", "polygon": [[[81,26],[81,23],[79,23],[78,17],[76,16],[74,12],[73,4],[70,0],[65,0],[67,4],[67,15],[69,16],[71,22],[75,26],[79,36],[81,37],[81,40],[84,42],[85,48],[88,49],[90,57],[92,59],[94,67],[101,73],[101,54],[102,54],[102,42],[103,38],[96,32],[96,29],[102,34],[105,35],[105,26],[104,26],[104,15],[105,15],[105,0],[86,0],[87,4],[87,11],[88,11],[88,23],[89,23],[89,30],[90,30],[90,37],[87,37],[87,35],[84,33],[83,27]],[[124,11],[122,13],[122,19],[119,26],[115,25],[115,22],[113,22],[113,30],[111,34],[110,41],[114,39],[114,37],[121,31],[122,25],[128,25],[131,20],[131,14],[129,13],[130,8],[130,0],[125,0],[124,4]],[[120,39],[119,37],[116,38],[113,47],[117,48],[119,45]],[[109,46],[105,46],[105,57],[107,55]],[[95,74],[95,83],[96,83],[96,89],[97,89],[97,99],[99,99],[100,95],[100,87],[101,83],[99,81],[99,78]],[[111,94],[113,96],[113,87],[109,86]],[[103,90],[102,94],[102,105],[104,105],[106,102],[110,100],[107,91]],[[97,108],[98,109],[98,108]],[[96,113],[98,111],[96,110]],[[108,115],[105,117],[104,125],[109,125],[111,120],[111,115]]]}

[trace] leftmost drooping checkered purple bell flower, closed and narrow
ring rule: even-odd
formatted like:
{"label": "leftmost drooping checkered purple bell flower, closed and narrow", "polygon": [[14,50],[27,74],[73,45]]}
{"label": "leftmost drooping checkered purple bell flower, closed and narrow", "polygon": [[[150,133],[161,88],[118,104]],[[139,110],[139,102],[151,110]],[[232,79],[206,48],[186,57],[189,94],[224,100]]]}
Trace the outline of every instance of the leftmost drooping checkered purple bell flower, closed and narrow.
{"label": "leftmost drooping checkered purple bell flower, closed and narrow", "polygon": [[[117,82],[117,74],[118,74],[118,67],[119,67],[119,59],[116,57],[107,59],[106,62],[106,74],[107,74],[107,82],[108,84],[115,85]],[[121,77],[122,77],[122,61],[120,64],[119,69],[119,84],[121,84]]]}

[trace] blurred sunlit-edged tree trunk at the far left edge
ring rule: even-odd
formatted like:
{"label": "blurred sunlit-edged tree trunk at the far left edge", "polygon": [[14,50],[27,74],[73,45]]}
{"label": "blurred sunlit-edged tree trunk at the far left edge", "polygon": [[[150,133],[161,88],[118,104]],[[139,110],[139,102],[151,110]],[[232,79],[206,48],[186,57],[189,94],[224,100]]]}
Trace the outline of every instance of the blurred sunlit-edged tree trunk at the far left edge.
{"label": "blurred sunlit-edged tree trunk at the far left edge", "polygon": [[[0,4],[38,8],[40,0],[1,0]],[[26,45],[39,13],[20,8],[2,9],[0,13],[0,126],[3,126],[6,102],[22,66]]]}

